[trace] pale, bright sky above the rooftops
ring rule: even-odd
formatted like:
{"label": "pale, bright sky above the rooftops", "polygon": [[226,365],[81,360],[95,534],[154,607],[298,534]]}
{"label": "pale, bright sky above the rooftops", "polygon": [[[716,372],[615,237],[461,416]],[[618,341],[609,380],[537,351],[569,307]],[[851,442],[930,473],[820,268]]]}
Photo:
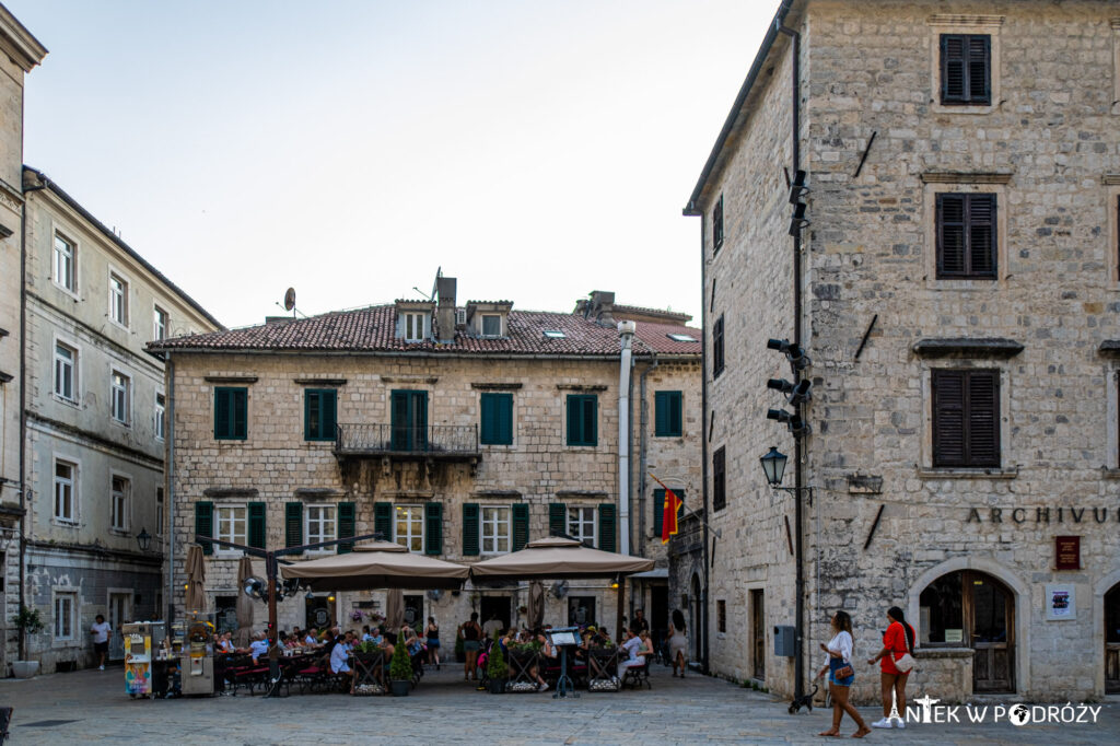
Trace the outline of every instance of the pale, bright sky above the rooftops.
{"label": "pale, bright sky above the rooftops", "polygon": [[[419,298],[700,323],[681,209],[777,0],[2,0],[27,165],[230,327]],[[416,290],[414,288],[418,288]]]}

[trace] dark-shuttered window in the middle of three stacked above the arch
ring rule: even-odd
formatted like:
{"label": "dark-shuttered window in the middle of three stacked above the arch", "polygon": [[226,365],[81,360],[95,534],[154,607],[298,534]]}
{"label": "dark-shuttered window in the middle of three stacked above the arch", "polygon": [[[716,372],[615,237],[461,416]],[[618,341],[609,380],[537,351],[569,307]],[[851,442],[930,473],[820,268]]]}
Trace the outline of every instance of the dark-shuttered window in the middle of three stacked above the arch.
{"label": "dark-shuttered window in the middle of three stacked above the arch", "polygon": [[996,279],[996,195],[937,195],[937,278]]}

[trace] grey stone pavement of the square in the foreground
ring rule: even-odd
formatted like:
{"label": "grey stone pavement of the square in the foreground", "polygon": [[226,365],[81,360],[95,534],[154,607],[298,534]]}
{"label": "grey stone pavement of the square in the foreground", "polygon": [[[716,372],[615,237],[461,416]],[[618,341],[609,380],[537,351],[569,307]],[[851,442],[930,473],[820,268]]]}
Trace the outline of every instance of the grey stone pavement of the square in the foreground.
{"label": "grey stone pavement of the square in the foreground", "polygon": [[[461,669],[430,671],[407,698],[292,694],[132,700],[120,668],[29,681],[0,680],[0,706],[16,708],[12,744],[804,744],[830,710],[799,716],[787,703],[720,679],[673,679],[655,665],[653,689],[619,693],[493,696],[461,680]],[[1064,702],[1063,702],[1064,705]],[[871,743],[1120,743],[1120,702],[1101,703],[1096,725],[912,725],[876,730]],[[870,721],[872,708],[861,708]],[[961,719],[964,719],[963,715]],[[844,719],[842,733],[855,727]],[[405,740],[407,739],[407,740]]]}

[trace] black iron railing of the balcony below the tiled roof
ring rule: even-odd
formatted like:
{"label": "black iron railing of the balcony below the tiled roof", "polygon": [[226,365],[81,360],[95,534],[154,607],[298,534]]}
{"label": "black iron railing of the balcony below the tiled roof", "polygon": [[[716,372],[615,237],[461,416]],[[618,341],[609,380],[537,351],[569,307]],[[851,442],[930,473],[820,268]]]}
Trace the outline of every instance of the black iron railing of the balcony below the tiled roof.
{"label": "black iron railing of the balcony below the tiled roof", "polygon": [[477,456],[474,425],[338,425],[335,453],[345,456]]}

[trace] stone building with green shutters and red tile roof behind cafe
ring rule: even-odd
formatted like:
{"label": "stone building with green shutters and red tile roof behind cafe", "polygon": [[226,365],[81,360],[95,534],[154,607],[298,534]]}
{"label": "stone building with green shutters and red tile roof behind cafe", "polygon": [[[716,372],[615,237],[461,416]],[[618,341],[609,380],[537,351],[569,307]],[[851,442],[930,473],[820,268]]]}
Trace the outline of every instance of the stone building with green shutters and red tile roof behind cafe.
{"label": "stone building with green shutters and red tile roof behind cafe", "polygon": [[[380,532],[465,562],[561,531],[657,559],[660,571],[632,586],[624,610],[664,618],[666,561],[653,535],[662,495],[640,470],[688,494],[699,487],[700,330],[688,316],[615,305],[608,292],[558,314],[513,310],[508,300],[457,306],[455,279],[438,287],[436,302],[272,318],[150,345],[168,361],[174,400],[177,578],[196,533],[212,531],[269,549]],[[620,501],[616,326],[629,318],[632,488]],[[237,558],[221,548],[207,557],[206,593],[230,628]],[[171,586],[178,615],[181,585]],[[516,624],[528,595],[522,582],[404,598],[407,617],[435,616],[450,645],[472,608]],[[616,598],[609,579],[553,586],[545,618],[613,626]],[[280,604],[279,623],[357,627],[376,621],[383,602],[376,589],[300,593]],[[259,628],[264,615],[261,607]]]}

